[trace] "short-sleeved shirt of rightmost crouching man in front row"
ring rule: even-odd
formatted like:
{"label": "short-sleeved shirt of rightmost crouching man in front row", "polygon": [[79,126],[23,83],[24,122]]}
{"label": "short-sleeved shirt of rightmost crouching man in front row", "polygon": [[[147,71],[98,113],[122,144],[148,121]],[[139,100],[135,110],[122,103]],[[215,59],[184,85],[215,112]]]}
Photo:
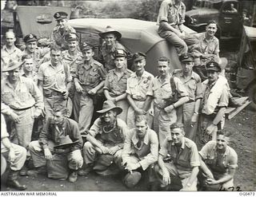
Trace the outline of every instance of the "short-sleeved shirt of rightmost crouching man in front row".
{"label": "short-sleeved shirt of rightmost crouching man in front row", "polygon": [[199,155],[210,167],[210,170],[217,173],[228,173],[230,169],[238,167],[238,155],[230,146],[226,146],[223,156],[218,156],[217,142],[212,140],[202,147]]}

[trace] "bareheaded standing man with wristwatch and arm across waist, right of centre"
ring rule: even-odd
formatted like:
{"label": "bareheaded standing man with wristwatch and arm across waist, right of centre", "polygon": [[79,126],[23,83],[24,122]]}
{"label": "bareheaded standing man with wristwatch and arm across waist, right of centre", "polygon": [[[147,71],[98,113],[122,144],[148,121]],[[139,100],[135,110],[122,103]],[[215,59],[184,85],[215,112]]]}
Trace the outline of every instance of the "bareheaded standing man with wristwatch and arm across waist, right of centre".
{"label": "bareheaded standing man with wristwatch and arm across waist, right of centre", "polygon": [[[166,137],[170,136],[170,124],[177,121],[175,108],[185,104],[189,98],[186,88],[177,77],[173,78],[175,89],[170,85],[172,75],[167,57],[158,59],[158,73],[146,93],[146,104],[154,99],[154,131],[158,133],[159,144],[162,146]],[[178,98],[174,97],[174,93],[178,93]]]}

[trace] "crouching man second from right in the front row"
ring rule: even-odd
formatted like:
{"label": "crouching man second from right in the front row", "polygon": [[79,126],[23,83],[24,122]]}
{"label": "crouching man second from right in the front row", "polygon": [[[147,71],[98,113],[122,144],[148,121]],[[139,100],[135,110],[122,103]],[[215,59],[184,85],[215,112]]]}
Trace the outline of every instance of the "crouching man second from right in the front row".
{"label": "crouching man second from right in the front row", "polygon": [[158,165],[154,167],[160,187],[168,191],[173,189],[174,180],[180,180],[180,191],[197,191],[200,166],[198,148],[192,140],[185,137],[182,123],[171,124],[170,130],[171,136],[164,141],[159,151]]}

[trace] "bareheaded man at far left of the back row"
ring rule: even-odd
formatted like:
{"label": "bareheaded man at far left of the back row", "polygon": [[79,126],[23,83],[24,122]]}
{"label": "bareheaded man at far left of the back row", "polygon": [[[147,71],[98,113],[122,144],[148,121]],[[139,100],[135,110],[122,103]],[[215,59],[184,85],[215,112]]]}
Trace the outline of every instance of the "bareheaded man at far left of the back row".
{"label": "bareheaded man at far left of the back row", "polygon": [[12,30],[6,32],[6,45],[2,46],[1,49],[1,61],[2,65],[6,66],[9,61],[20,61],[22,57],[22,51],[18,49],[14,42],[16,41],[15,34]]}

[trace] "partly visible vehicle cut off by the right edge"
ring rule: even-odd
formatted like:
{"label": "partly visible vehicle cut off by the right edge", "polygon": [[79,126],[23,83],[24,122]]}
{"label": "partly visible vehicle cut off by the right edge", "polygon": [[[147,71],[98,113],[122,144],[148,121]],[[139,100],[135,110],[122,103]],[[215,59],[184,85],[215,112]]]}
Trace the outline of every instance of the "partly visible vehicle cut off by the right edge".
{"label": "partly visible vehicle cut off by the right edge", "polygon": [[230,73],[231,85],[248,93],[250,106],[256,110],[256,28],[244,26],[234,73]]}

